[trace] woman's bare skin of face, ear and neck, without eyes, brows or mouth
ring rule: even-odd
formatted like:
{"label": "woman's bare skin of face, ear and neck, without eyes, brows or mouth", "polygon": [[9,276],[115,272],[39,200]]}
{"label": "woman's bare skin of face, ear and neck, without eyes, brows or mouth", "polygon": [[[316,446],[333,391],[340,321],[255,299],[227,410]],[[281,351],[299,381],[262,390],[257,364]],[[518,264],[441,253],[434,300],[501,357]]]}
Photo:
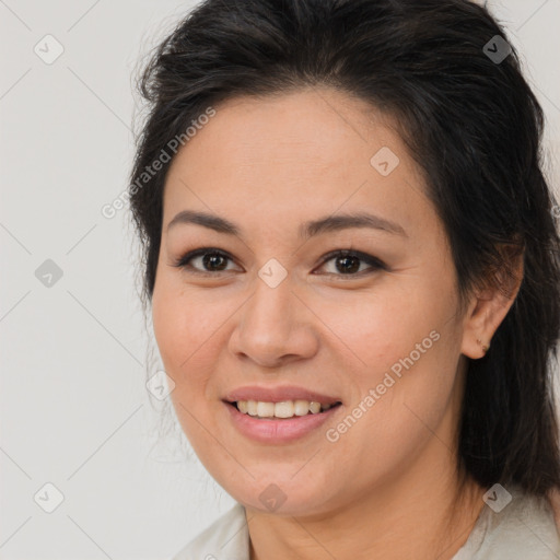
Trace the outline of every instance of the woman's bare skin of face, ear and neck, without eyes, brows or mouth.
{"label": "woman's bare skin of face, ear and neck, without eyes, brows or mouth", "polygon": [[[483,355],[516,293],[474,295],[459,308],[447,237],[420,168],[395,122],[329,89],[237,97],[177,153],[164,192],[152,300],[158,346],[176,386],[182,427],[210,475],[246,508],[253,560],[452,558],[486,489],[469,481],[456,503],[456,428],[466,357]],[[400,162],[383,176],[370,160],[388,147]],[[167,224],[182,210],[218,214],[240,235]],[[406,235],[352,228],[303,240],[308,220],[368,211]],[[226,252],[225,271],[174,265],[199,247]],[[335,249],[355,249],[343,273]],[[259,269],[288,276],[270,288]],[[358,265],[357,265],[358,266]],[[195,270],[192,270],[195,269]],[[200,276],[196,269],[214,276]],[[212,271],[214,270],[214,271]],[[518,284],[517,284],[518,285]],[[440,338],[350,430],[336,427],[431,331]],[[282,445],[242,435],[222,402],[242,385],[301,385],[339,396],[327,425]],[[277,485],[285,502],[259,494]]]}

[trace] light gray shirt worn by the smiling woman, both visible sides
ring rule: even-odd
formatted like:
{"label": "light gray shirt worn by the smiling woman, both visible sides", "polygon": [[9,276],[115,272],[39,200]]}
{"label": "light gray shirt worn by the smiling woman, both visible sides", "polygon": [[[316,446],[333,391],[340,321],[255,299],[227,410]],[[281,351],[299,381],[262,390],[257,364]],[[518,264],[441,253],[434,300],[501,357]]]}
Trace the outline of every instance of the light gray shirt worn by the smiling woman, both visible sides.
{"label": "light gray shirt worn by the smiling woman, both visible sides", "polygon": [[[517,488],[508,491],[512,501],[499,512],[485,505],[452,560],[560,560],[560,537],[549,501]],[[245,508],[236,503],[172,560],[249,560]]]}

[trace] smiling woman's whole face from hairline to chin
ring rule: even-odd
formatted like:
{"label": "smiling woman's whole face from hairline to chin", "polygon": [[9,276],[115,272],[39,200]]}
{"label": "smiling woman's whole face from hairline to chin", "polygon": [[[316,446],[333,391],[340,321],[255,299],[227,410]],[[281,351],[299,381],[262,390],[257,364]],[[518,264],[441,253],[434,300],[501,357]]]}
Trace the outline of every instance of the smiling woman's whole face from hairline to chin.
{"label": "smiling woman's whole face from hairline to chin", "polygon": [[[167,175],[153,293],[171,397],[197,455],[237,501],[288,514],[436,483],[453,457],[466,319],[419,168],[387,119],[332,90],[215,110]],[[170,226],[184,211],[236,233]],[[209,254],[175,266],[200,248]],[[361,256],[328,255],[343,249]],[[259,416],[290,415],[291,402],[273,402],[306,392],[341,404],[271,420],[228,402],[253,396],[268,402]]]}

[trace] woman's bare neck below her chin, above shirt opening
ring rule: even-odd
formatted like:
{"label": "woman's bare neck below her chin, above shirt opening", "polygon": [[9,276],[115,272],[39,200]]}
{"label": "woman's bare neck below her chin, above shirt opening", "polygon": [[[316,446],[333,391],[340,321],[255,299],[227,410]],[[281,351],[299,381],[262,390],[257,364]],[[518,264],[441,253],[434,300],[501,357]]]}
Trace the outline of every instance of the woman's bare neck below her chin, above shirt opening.
{"label": "woman's bare neck below her chin, above shirt opening", "polygon": [[323,515],[247,509],[250,560],[450,560],[483,506],[483,490],[474,481],[457,488],[452,469],[420,468],[394,485],[384,481],[365,495],[348,497],[342,508]]}

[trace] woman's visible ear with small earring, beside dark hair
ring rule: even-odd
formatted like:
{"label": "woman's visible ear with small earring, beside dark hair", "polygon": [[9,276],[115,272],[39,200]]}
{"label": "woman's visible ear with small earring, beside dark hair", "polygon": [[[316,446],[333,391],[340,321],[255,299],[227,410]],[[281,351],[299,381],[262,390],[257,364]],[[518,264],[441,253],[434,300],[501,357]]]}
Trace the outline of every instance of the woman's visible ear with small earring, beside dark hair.
{"label": "woman's visible ear with small earring, beside dark hair", "polygon": [[483,288],[472,296],[465,315],[462,353],[472,359],[486,355],[523,281],[523,247],[502,245],[499,250],[502,266],[489,271]]}

